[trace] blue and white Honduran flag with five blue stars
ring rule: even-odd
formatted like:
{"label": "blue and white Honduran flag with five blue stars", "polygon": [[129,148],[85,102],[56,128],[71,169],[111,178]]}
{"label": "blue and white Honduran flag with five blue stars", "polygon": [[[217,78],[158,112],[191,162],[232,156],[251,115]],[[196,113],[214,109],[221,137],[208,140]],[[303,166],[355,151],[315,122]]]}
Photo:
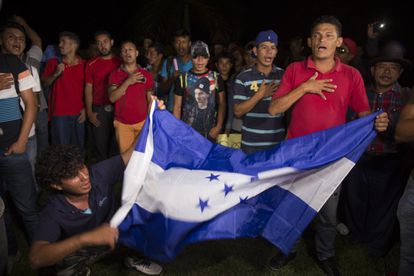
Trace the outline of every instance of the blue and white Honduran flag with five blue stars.
{"label": "blue and white Honduran flag with five blue stars", "polygon": [[376,135],[372,114],[246,155],[154,106],[111,225],[120,243],[158,261],[238,237],[262,236],[287,254]]}

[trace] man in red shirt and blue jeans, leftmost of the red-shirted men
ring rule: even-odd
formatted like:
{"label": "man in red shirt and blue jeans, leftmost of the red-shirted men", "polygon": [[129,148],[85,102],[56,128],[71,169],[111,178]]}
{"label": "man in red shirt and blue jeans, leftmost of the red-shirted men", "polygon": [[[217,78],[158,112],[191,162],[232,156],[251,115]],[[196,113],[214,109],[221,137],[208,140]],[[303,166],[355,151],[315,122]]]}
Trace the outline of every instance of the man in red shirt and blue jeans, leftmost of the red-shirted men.
{"label": "man in red shirt and blue jeans, leftmost of the red-shirted men", "polygon": [[53,144],[74,144],[82,151],[85,144],[83,88],[85,61],[76,54],[80,40],[72,32],[59,34],[62,60],[50,59],[41,77],[49,94],[49,120]]}

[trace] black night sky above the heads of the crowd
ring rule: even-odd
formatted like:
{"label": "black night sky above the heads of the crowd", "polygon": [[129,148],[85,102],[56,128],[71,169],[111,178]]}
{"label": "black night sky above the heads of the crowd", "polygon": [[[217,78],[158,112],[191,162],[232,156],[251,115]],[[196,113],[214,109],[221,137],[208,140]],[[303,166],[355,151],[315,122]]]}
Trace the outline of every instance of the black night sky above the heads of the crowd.
{"label": "black night sky above the heads of the crowd", "polygon": [[[86,46],[86,41],[92,37],[94,31],[102,28],[109,30],[118,42],[131,38],[128,37],[128,30],[131,28],[132,18],[142,16],[142,10],[151,0],[116,0],[112,4],[104,0],[3,0],[2,2],[1,21],[15,13],[23,16],[38,31],[45,44],[54,43],[60,31],[71,30],[80,34],[83,46]],[[296,34],[305,37],[315,17],[333,14],[343,23],[344,36],[354,38],[360,45],[364,43],[366,25],[383,19],[387,22],[387,30],[382,35],[383,41],[400,40],[408,50],[414,49],[414,35],[411,31],[412,27],[409,27],[412,26],[412,9],[408,7],[409,1],[398,3],[399,1],[313,0],[303,4],[292,0],[255,0],[250,1],[249,5],[244,4],[244,1],[235,0],[190,2],[204,2],[215,7],[238,34],[237,39],[243,43],[254,39],[260,30],[270,28],[279,34],[281,41],[287,41]],[[164,16],[171,17],[172,14],[167,13]],[[203,23],[195,18],[197,13],[191,10],[191,16],[193,40],[203,39],[210,42]],[[412,51],[408,52],[408,56],[413,58]]]}

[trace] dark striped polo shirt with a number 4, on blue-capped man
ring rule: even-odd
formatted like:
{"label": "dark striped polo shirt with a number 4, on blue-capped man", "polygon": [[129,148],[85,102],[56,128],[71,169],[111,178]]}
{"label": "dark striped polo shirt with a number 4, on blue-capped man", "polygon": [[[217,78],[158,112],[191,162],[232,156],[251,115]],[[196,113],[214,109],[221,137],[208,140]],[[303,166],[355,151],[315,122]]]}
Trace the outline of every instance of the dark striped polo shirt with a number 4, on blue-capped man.
{"label": "dark striped polo shirt with a number 4, on blue-capped man", "polygon": [[[259,90],[263,81],[280,81],[283,69],[273,66],[268,76],[259,72],[256,66],[244,69],[234,83],[234,104],[250,99]],[[263,98],[248,113],[244,114],[242,126],[241,149],[245,153],[264,150],[277,145],[285,139],[286,129],[284,114],[272,116],[267,109],[272,97]]]}

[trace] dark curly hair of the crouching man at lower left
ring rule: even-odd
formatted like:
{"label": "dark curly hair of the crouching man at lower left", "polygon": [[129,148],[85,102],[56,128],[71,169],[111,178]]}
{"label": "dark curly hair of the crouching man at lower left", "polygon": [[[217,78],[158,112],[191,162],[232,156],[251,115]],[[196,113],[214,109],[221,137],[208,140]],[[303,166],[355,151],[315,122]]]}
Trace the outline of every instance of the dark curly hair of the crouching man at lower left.
{"label": "dark curly hair of the crouching man at lower left", "polygon": [[50,189],[62,179],[78,175],[84,166],[83,157],[74,145],[52,145],[38,157],[36,162],[36,180],[42,187]]}

